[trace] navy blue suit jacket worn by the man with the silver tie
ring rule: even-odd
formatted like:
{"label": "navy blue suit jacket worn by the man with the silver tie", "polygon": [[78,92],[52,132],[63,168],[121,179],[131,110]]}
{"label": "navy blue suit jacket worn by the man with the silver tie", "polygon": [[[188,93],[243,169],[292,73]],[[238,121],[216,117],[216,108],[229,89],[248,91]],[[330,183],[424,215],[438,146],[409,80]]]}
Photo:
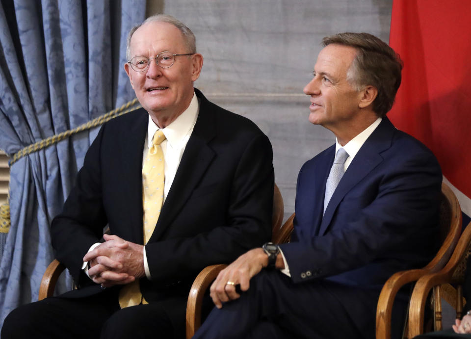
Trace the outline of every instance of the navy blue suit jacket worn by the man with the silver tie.
{"label": "navy blue suit jacket worn by the man with the silver tie", "polygon": [[353,158],[325,215],[335,145],[298,176],[294,232],[281,245],[294,283],[323,279],[371,288],[436,252],[442,173],[435,156],[388,118]]}

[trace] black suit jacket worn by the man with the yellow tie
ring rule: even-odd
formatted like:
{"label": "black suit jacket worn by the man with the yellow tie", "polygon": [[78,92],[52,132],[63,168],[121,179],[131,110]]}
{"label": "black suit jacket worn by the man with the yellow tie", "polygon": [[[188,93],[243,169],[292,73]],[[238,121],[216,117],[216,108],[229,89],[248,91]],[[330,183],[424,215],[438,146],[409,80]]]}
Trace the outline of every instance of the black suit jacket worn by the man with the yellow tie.
{"label": "black suit jacket worn by the man with the yellow tie", "polygon": [[[274,175],[268,138],[248,119],[195,92],[199,115],[146,245],[152,281],[142,278],[140,284],[149,302],[187,295],[202,268],[234,261],[271,237]],[[100,291],[81,266],[106,224],[111,234],[143,243],[147,124],[141,108],[101,128],[62,213],[52,221],[56,258],[80,287],[75,297]]]}

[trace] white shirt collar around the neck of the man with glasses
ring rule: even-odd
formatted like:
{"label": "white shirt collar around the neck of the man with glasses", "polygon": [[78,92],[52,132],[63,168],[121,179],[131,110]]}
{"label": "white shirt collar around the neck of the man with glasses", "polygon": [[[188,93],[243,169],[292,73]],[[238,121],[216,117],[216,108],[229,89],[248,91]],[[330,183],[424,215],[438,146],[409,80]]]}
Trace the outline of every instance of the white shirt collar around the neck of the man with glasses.
{"label": "white shirt collar around the neck of the man with glasses", "polygon": [[191,102],[182,114],[180,114],[177,119],[172,121],[170,125],[164,129],[158,128],[158,126],[152,121],[151,116],[149,115],[148,122],[148,132],[147,132],[147,145],[148,147],[152,145],[152,139],[157,130],[162,130],[165,138],[170,143],[170,145],[178,145],[184,137],[193,130],[193,126],[196,123],[196,118],[198,117],[200,105],[198,103],[198,97],[193,92],[193,98]]}

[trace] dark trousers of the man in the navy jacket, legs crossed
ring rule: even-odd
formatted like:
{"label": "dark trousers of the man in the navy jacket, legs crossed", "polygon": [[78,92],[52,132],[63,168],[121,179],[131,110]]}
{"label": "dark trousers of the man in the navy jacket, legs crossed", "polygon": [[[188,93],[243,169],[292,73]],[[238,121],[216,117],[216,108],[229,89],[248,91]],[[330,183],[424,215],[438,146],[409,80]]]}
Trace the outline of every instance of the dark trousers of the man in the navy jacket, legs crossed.
{"label": "dark trousers of the man in the navy jacket, legs crossed", "polygon": [[193,338],[374,338],[377,295],[262,270],[240,298],[214,308]]}

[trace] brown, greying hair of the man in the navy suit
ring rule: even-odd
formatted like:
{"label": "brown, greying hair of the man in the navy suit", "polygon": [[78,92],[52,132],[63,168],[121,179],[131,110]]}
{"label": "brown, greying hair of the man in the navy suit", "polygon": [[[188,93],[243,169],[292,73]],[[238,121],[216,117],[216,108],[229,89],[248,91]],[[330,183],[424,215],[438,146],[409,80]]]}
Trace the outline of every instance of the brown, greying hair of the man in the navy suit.
{"label": "brown, greying hair of the man in the navy suit", "polygon": [[357,90],[371,85],[378,90],[373,111],[384,117],[391,109],[397,89],[401,84],[402,60],[381,39],[368,33],[339,33],[322,39],[325,47],[330,44],[350,46],[357,55],[347,71],[347,81]]}

